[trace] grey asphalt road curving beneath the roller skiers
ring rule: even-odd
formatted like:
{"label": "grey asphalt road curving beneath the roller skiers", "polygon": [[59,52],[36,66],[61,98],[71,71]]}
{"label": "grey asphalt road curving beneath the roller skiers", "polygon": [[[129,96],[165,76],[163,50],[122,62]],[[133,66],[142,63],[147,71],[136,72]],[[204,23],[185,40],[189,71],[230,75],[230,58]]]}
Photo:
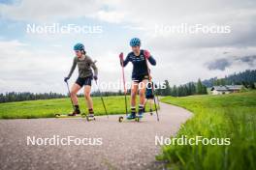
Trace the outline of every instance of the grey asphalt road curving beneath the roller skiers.
{"label": "grey asphalt road curving beneath the roller skiers", "polygon": [[[96,117],[93,122],[82,118],[0,120],[0,169],[161,169],[162,163],[155,160],[161,153],[155,137],[175,134],[190,116],[183,108],[161,103],[160,122],[155,114],[145,114],[140,123],[118,123],[117,115]],[[33,136],[37,145],[32,144]],[[53,137],[55,145],[54,139],[42,144]],[[68,137],[80,145],[74,141],[65,145]],[[60,139],[63,143],[57,145]]]}

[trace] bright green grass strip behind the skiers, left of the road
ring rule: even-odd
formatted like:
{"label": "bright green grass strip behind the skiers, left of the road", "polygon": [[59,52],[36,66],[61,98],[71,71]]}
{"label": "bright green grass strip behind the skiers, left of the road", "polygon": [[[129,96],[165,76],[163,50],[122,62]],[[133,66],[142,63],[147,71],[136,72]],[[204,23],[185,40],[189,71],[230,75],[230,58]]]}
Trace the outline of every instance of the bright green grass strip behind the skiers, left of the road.
{"label": "bright green grass strip behind the skiers, left of the road", "polygon": [[[104,101],[108,114],[125,114],[124,97],[104,97]],[[79,102],[80,110],[87,113],[85,100],[80,98]],[[95,115],[105,115],[101,99],[95,97],[93,103]],[[129,111],[130,97],[127,97],[127,104]],[[72,112],[72,105],[69,98],[0,103],[0,119],[52,118],[56,113],[67,114],[70,112]]]}

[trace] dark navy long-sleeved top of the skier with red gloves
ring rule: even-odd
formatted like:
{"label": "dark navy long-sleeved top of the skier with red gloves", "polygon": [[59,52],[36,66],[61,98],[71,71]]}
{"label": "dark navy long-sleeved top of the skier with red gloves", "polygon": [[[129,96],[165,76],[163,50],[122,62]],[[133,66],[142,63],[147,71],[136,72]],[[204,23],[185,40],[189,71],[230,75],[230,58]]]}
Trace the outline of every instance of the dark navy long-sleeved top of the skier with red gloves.
{"label": "dark navy long-sleeved top of the skier with red gloves", "polygon": [[[152,56],[148,58],[148,61],[151,65],[156,65],[155,59]],[[148,75],[143,49],[141,49],[141,53],[139,56],[136,56],[134,52],[130,52],[127,55],[126,59],[123,61],[123,66],[125,67],[129,62],[132,62],[133,64],[132,77]]]}

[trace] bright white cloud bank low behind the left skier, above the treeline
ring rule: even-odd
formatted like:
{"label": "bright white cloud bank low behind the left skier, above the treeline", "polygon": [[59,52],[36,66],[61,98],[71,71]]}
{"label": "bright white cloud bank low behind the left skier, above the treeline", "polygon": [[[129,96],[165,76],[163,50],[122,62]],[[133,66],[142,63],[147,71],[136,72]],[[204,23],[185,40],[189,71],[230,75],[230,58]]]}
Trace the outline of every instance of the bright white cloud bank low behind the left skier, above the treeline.
{"label": "bright white cloud bank low behind the left skier, above the treeline", "polygon": [[[74,54],[71,49],[54,50],[59,46],[53,45],[53,48],[41,46],[35,49],[33,44],[19,41],[1,41],[0,93],[10,91],[66,93],[67,89],[63,79],[70,71]],[[97,49],[90,50],[88,55],[93,60],[98,61],[96,65],[99,69],[100,82],[120,80],[121,67],[118,61],[118,53]],[[130,80],[130,73],[131,65],[126,68],[127,81]],[[74,71],[70,85],[76,81],[77,77],[78,69]],[[93,90],[96,90],[96,88],[94,84]]]}

